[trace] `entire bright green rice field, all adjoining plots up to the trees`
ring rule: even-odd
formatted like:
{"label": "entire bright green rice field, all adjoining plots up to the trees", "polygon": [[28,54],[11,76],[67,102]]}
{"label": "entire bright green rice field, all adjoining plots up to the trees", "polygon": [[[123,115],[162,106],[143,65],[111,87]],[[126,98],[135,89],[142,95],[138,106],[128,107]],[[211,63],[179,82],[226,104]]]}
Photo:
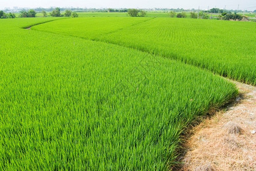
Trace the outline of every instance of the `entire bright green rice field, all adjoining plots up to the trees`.
{"label": "entire bright green rice field, all adjoining plots up to the trees", "polygon": [[1,19],[1,170],[170,170],[186,128],[238,95],[219,75],[256,84],[254,28]]}

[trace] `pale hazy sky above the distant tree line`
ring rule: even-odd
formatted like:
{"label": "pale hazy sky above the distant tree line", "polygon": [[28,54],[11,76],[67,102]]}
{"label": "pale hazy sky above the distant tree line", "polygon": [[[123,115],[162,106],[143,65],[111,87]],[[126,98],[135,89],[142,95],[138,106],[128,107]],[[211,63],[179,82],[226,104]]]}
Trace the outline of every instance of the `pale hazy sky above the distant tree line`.
{"label": "pale hazy sky above the distant tree line", "polygon": [[255,10],[255,0],[0,0],[0,9],[7,7],[82,7],[82,8],[183,8],[183,9],[219,9]]}

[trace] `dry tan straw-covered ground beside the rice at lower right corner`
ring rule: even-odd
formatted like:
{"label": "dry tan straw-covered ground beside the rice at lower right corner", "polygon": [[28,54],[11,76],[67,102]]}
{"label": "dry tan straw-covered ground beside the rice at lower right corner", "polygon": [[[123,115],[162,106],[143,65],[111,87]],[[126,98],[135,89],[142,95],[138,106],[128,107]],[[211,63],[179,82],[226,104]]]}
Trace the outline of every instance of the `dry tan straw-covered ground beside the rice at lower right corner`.
{"label": "dry tan straw-covered ground beside the rice at lower right corner", "polygon": [[182,170],[256,170],[256,87],[234,83],[242,96],[193,129]]}

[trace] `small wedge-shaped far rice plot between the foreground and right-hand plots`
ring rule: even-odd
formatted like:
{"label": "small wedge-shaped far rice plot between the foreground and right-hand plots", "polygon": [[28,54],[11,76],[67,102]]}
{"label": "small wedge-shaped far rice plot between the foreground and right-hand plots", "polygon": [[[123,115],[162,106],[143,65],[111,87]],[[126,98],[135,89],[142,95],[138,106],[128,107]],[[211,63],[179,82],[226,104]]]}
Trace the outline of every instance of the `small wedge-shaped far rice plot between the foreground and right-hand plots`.
{"label": "small wedge-shaped far rice plot between the foreground and right-hand plots", "polygon": [[[129,18],[129,17],[79,17],[67,18],[65,21],[51,22],[50,25],[38,25],[33,30],[44,30],[65,35],[74,35],[87,39],[95,39],[101,35],[109,34],[123,28],[148,21],[151,18]],[[47,29],[45,29],[47,28]]]}

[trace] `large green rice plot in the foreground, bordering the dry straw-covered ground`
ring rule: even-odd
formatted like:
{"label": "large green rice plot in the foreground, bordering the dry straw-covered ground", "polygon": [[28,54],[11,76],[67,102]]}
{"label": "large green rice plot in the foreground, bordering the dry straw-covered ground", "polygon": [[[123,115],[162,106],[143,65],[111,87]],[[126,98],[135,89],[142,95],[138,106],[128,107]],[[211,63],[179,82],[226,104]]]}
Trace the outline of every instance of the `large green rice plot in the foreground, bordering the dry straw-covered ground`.
{"label": "large green rice plot in the foreground, bordering the dry straw-covered ground", "polygon": [[22,29],[50,19],[0,20],[1,170],[167,170],[187,125],[237,95],[181,62]]}

